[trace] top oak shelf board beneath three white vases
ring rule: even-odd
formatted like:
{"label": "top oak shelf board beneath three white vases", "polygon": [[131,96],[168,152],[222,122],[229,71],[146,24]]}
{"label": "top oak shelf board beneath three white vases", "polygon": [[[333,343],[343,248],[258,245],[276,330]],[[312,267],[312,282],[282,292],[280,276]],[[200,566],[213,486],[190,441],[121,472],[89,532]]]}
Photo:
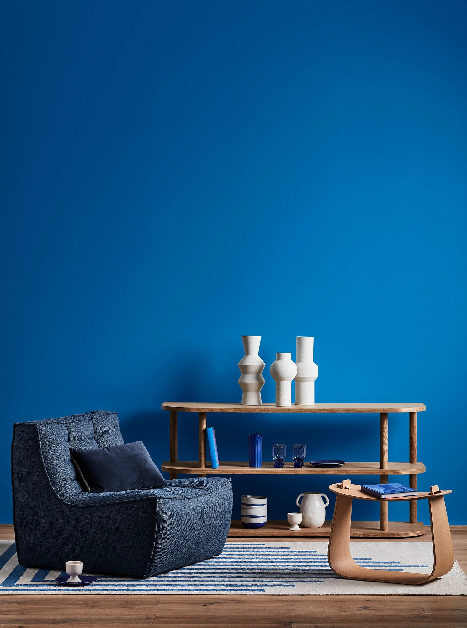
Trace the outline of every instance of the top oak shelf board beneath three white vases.
{"label": "top oak shelf board beneath three white vases", "polygon": [[241,403],[201,403],[192,401],[164,401],[163,410],[176,412],[423,412],[422,403],[315,403],[313,406],[276,406],[264,403],[262,406],[242,406]]}

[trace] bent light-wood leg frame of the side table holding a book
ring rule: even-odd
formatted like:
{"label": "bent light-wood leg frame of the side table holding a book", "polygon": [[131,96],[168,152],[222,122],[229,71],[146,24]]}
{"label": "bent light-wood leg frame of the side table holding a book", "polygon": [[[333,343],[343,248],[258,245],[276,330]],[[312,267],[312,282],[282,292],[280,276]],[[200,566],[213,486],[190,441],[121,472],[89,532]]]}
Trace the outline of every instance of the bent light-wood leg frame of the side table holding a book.
{"label": "bent light-wood leg frame of the side table holding a book", "polygon": [[330,490],[336,493],[333,523],[328,546],[328,562],[331,569],[341,578],[349,580],[370,580],[371,582],[390,582],[405,585],[422,585],[430,580],[449,573],[454,565],[454,549],[449,529],[448,514],[444,495],[450,490],[439,490],[432,486],[429,493],[419,493],[414,497],[392,497],[392,502],[404,502],[428,499],[430,508],[431,534],[434,563],[431,574],[409,573],[400,571],[382,571],[367,569],[357,565],[350,554],[350,520],[352,519],[352,499],[381,501],[360,490],[358,484],[343,480],[340,484],[331,484]]}

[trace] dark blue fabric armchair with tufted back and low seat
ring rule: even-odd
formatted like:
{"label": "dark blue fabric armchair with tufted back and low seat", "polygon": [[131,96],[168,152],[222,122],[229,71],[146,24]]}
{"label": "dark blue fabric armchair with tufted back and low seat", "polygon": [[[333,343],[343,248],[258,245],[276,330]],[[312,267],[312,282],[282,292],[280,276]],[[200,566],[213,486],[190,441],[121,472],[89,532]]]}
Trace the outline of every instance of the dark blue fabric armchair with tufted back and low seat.
{"label": "dark blue fabric armchair with tufted back and low seat", "polygon": [[159,489],[89,493],[70,448],[123,443],[114,412],[15,423],[13,518],[21,565],[148,578],[222,552],[232,484],[222,477],[170,480]]}

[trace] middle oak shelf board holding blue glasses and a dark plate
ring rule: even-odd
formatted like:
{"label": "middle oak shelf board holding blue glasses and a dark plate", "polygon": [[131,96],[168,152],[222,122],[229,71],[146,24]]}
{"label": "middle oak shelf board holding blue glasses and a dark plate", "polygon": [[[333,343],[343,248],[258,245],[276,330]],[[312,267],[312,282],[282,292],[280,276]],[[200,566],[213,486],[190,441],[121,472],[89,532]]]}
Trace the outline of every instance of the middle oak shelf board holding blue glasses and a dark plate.
{"label": "middle oak shelf board holding blue glasses and a dark plate", "polygon": [[274,462],[263,462],[262,467],[249,467],[248,460],[220,462],[216,469],[207,462],[205,468],[198,467],[197,460],[166,460],[162,470],[168,473],[190,475],[412,475],[425,472],[422,462],[388,462],[385,468],[379,462],[346,462],[342,467],[318,468],[304,463],[302,468],[294,468],[293,462],[284,463],[280,469],[274,468]]}

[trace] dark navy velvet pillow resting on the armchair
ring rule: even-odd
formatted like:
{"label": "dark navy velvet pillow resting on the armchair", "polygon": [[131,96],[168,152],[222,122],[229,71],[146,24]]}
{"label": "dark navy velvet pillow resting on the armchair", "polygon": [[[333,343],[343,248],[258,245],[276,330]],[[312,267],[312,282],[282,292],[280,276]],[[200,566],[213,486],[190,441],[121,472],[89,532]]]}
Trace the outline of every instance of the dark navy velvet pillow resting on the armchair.
{"label": "dark navy velvet pillow resting on the armchair", "polygon": [[99,449],[70,449],[91,493],[157,489],[165,482],[141,440]]}

